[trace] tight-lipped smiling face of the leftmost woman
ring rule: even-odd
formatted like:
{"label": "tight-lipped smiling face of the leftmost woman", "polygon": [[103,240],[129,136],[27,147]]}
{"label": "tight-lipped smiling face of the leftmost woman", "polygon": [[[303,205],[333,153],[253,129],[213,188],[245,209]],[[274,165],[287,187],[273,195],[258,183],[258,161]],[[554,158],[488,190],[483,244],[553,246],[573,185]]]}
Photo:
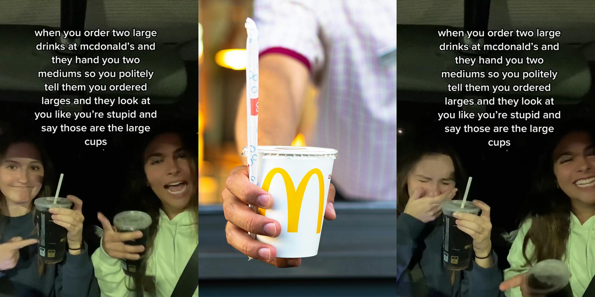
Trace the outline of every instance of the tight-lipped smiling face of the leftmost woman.
{"label": "tight-lipped smiling face of the leftmost woman", "polygon": [[7,203],[29,204],[43,185],[39,151],[29,143],[15,143],[0,160],[0,191]]}

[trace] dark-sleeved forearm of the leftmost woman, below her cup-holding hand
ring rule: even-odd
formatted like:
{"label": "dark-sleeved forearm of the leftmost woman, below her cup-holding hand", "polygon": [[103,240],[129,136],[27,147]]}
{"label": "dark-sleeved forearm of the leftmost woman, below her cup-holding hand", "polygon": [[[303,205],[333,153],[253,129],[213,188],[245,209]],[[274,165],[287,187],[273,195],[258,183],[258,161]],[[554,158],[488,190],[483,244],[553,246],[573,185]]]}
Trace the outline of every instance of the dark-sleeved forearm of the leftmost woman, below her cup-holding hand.
{"label": "dark-sleeved forearm of the leftmost woman, below her cup-holding hand", "polygon": [[56,296],[58,297],[86,297],[98,296],[99,292],[91,292],[93,280],[93,264],[84,250],[68,251],[65,260],[58,265],[55,279]]}

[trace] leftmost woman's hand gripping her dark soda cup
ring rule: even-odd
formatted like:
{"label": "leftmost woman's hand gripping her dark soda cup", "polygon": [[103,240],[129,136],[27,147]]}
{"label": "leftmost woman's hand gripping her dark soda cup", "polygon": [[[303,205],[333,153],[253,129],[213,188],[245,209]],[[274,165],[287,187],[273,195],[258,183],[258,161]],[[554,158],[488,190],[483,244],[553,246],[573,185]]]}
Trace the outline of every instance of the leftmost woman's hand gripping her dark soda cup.
{"label": "leftmost woman's hand gripping her dark soda cup", "polygon": [[80,254],[81,250],[78,248],[83,245],[83,201],[73,195],[68,195],[66,198],[74,203],[73,209],[49,208],[49,212],[52,213],[54,223],[68,230],[68,248],[77,249],[69,251],[70,254]]}

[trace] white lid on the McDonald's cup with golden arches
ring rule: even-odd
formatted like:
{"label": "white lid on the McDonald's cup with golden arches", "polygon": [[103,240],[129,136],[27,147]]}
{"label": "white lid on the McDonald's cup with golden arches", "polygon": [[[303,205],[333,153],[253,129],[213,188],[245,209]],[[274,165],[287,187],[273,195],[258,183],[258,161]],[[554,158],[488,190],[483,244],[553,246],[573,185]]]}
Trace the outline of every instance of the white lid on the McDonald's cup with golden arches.
{"label": "white lid on the McDonald's cup with golden arches", "polygon": [[[244,147],[242,156],[254,153]],[[259,159],[339,159],[339,151],[326,147],[258,146]]]}

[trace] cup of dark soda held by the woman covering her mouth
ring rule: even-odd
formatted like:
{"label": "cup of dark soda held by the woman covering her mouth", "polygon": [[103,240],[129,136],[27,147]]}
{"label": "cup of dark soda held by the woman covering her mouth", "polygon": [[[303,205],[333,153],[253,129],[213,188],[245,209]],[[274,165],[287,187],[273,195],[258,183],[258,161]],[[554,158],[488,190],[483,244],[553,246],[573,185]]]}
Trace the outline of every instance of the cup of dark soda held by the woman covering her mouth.
{"label": "cup of dark soda held by the woman covering her mouth", "polygon": [[452,200],[442,203],[443,220],[443,244],[442,260],[444,267],[448,270],[464,270],[471,263],[473,252],[473,239],[467,233],[456,227],[456,218],[453,213],[478,214],[480,208],[471,201],[465,202],[461,208],[462,200]]}

